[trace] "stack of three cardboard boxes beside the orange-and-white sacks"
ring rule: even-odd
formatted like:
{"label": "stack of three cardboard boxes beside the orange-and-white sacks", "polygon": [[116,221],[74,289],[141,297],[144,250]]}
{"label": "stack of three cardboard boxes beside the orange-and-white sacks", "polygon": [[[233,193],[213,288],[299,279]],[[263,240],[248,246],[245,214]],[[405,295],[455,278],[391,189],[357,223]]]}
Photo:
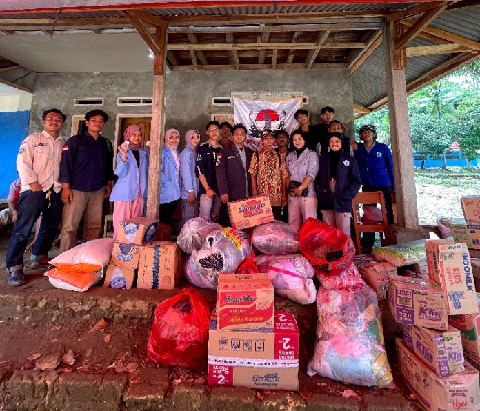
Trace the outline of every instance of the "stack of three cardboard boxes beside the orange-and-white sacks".
{"label": "stack of three cardboard boxes beside the orange-and-white sacks", "polygon": [[[181,277],[181,254],[176,243],[153,241],[159,221],[137,217],[119,223],[117,242],[104,285],[111,288],[170,289]],[[138,273],[138,278],[137,278]]]}

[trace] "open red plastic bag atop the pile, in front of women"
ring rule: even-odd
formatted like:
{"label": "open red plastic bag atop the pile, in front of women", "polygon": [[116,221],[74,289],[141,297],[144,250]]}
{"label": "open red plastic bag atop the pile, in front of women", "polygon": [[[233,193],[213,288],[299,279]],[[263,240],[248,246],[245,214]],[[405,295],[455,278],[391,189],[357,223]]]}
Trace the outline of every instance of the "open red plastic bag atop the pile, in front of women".
{"label": "open red plastic bag atop the pile, in front of women", "polygon": [[346,270],[355,257],[355,246],[343,231],[311,217],[299,231],[300,252],[310,264],[325,274]]}

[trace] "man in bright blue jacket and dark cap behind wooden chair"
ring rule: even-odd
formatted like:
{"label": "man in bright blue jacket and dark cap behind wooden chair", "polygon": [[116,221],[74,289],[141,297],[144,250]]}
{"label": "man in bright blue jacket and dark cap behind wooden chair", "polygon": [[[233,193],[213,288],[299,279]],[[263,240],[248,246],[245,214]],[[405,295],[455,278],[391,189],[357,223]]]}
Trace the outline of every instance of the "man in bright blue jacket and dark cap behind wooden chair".
{"label": "man in bright blue jacket and dark cap behind wooden chair", "polygon": [[[395,191],[392,152],[386,144],[377,141],[377,130],[371,124],[361,126],[360,139],[354,152],[357,160],[363,192],[381,191],[385,197],[387,221],[394,223],[392,208],[392,192]],[[374,233],[363,233],[362,245],[365,250],[372,248]]]}

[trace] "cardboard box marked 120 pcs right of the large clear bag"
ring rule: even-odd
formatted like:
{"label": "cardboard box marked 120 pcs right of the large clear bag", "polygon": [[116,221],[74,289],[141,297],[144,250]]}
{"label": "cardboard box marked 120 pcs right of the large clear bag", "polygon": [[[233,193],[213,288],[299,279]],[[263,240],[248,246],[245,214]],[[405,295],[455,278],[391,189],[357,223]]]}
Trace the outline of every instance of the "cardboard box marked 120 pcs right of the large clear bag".
{"label": "cardboard box marked 120 pcs right of the large clear bag", "polygon": [[388,305],[398,323],[448,330],[446,297],[432,280],[390,275]]}

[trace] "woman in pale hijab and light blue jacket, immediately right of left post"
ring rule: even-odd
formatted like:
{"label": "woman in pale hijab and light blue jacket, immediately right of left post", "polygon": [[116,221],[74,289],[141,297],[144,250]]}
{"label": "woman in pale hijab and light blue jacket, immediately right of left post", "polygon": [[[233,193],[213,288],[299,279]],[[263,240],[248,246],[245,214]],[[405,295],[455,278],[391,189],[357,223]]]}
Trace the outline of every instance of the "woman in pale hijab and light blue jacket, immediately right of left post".
{"label": "woman in pale hijab and light blue jacket, immediately right of left post", "polygon": [[197,166],[197,147],[200,144],[198,130],[188,130],[185,134],[185,148],[180,153],[181,194],[180,229],[186,221],[199,217],[199,179],[195,175]]}

